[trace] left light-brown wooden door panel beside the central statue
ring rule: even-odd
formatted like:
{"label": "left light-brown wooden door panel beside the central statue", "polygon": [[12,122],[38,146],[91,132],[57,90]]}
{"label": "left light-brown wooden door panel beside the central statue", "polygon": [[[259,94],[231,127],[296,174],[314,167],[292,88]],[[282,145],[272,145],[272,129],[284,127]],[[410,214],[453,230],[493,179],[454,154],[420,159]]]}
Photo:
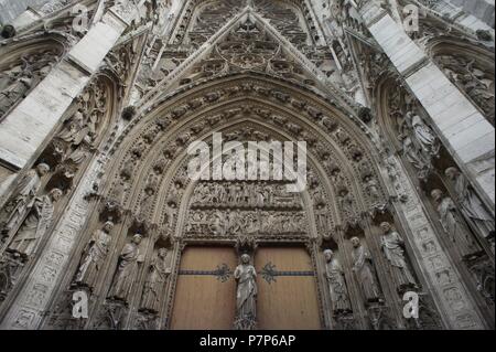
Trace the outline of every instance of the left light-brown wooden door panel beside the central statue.
{"label": "left light-brown wooden door panel beside the central statue", "polygon": [[[174,330],[229,330],[236,310],[236,282],[213,275],[219,266],[233,271],[234,248],[188,247],[181,259],[171,328]],[[204,273],[202,273],[204,271]],[[207,273],[211,271],[211,273]]]}

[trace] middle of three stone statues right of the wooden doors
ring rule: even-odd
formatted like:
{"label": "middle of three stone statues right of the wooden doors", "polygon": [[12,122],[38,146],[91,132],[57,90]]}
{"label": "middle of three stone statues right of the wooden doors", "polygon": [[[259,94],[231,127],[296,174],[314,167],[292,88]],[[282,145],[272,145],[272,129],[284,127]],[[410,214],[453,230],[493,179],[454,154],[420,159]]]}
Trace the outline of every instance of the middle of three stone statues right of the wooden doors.
{"label": "middle of three stone statues right of the wooden doors", "polygon": [[370,253],[362,245],[358,237],[352,238],[353,271],[360,285],[362,294],[366,301],[380,300],[380,291],[377,285]]}

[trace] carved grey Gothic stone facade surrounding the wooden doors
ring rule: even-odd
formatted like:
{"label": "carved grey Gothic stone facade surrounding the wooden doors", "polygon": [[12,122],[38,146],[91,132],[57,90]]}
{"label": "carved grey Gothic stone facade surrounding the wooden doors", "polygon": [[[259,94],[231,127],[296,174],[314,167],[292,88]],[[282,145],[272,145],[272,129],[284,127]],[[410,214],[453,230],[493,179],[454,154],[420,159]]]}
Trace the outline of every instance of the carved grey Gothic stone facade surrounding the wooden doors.
{"label": "carved grey Gothic stone facade surrounding the wooden doors", "polygon": [[[258,327],[257,287],[281,275],[315,278],[323,329],[494,329],[494,18],[461,2],[80,0],[9,14],[0,328],[174,328],[185,250],[222,246],[236,270],[197,275],[236,280],[235,329]],[[306,142],[305,190],[190,178],[188,147],[215,149],[214,134]],[[229,162],[249,169],[214,156],[207,171]],[[288,246],[311,271],[252,263]]]}

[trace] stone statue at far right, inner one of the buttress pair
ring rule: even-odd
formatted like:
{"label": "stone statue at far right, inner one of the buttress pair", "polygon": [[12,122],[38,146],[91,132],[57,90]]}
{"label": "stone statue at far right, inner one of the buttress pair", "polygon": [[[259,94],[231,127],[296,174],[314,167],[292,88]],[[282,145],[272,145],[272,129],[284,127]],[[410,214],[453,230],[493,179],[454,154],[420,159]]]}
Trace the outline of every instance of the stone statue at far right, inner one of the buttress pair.
{"label": "stone statue at far right, inner one of the buttress pair", "polygon": [[441,225],[460,254],[466,257],[482,250],[459,215],[453,200],[449,196],[443,196],[441,190],[433,190],[431,196],[435,204],[438,204]]}

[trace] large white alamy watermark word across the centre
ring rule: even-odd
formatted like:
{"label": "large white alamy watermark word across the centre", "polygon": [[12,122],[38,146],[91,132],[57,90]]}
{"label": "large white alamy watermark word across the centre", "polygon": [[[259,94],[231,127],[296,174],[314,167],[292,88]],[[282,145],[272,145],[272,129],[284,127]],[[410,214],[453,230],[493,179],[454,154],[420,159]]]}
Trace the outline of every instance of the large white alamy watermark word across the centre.
{"label": "large white alamy watermark word across the centre", "polygon": [[187,166],[194,181],[290,181],[288,192],[306,189],[305,141],[228,141],[214,134],[211,146],[194,141],[187,148]]}

